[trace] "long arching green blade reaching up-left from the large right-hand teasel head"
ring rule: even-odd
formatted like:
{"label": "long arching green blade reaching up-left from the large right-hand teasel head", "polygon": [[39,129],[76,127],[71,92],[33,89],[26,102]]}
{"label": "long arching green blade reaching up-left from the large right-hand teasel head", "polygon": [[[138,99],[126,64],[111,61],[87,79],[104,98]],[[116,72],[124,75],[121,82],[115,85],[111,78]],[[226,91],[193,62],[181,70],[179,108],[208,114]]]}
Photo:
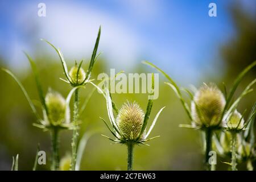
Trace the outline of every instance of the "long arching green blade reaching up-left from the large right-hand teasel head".
{"label": "long arching green blade reaching up-left from the large right-hand teasel head", "polygon": [[159,71],[160,73],[162,73],[162,74],[167,78],[168,81],[170,81],[170,84],[173,85],[173,86],[171,86],[171,87],[172,87],[172,88],[175,88],[174,91],[176,92],[178,98],[179,98],[180,101],[181,101],[181,104],[183,105],[185,111],[187,112],[189,119],[192,120],[190,110],[189,110],[187,104],[185,103],[184,98],[182,97],[182,94],[181,94],[181,92],[180,92],[179,86],[177,86],[177,84],[174,82],[174,80],[172,80],[172,78],[171,78],[170,76],[168,76],[167,73],[165,73],[162,69],[156,67],[156,65],[154,65],[154,64],[152,64],[152,63],[150,63],[150,62],[148,62],[148,61],[142,61],[142,63],[143,63],[143,64],[150,65],[152,68],[155,68],[157,71]]}

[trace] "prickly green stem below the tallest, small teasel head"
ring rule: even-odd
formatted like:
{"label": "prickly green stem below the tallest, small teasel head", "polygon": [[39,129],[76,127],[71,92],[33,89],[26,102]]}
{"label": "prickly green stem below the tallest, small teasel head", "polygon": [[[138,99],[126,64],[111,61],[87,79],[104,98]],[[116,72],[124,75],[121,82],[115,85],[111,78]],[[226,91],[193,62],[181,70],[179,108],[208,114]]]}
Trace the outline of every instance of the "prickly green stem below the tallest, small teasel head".
{"label": "prickly green stem below the tallest, small teasel head", "polygon": [[72,138],[72,162],[71,170],[75,171],[76,167],[76,156],[77,156],[77,138],[79,137],[78,133],[78,118],[79,118],[79,89],[75,91],[75,101],[74,101],[74,110],[73,110],[73,138]]}

